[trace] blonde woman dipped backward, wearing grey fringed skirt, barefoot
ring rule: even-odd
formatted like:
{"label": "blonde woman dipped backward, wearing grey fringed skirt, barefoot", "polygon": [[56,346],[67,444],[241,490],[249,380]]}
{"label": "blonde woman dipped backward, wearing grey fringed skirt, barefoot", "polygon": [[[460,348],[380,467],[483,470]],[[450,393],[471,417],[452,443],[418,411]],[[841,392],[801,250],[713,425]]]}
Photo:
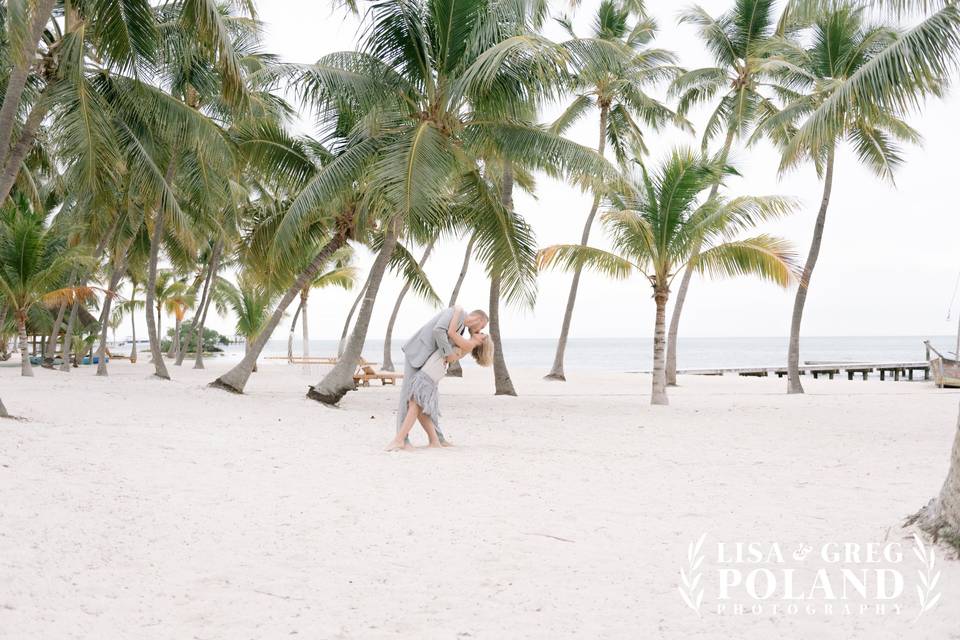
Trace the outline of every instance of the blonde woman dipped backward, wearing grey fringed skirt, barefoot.
{"label": "blonde woman dipped backward, wearing grey fringed skirt, barefoot", "polygon": [[[458,309],[459,311],[459,309]],[[462,313],[462,312],[461,312]],[[473,355],[481,367],[489,367],[493,364],[493,340],[484,333],[477,333],[470,338],[464,338],[456,329],[458,326],[459,314],[454,313],[450,321],[448,334],[451,340],[456,344],[453,353],[446,358],[443,357],[439,349],[434,351],[424,365],[414,374],[410,381],[409,398],[407,398],[407,415],[397,431],[397,436],[387,447],[387,451],[399,451],[401,449],[411,448],[406,442],[413,423],[417,420],[423,430],[427,432],[430,447],[443,446],[440,438],[437,436],[437,422],[440,418],[440,395],[438,385],[440,380],[447,373],[447,365],[459,360],[468,353]]]}

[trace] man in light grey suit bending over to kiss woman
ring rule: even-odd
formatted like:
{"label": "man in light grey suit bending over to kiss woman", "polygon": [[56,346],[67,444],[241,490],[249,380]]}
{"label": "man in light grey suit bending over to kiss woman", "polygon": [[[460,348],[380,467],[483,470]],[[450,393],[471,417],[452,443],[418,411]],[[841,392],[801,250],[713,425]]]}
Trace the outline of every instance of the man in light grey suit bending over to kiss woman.
{"label": "man in light grey suit bending over to kiss woman", "polygon": [[[459,316],[457,319],[457,330],[454,335],[451,335],[449,331],[450,323],[453,321],[455,314]],[[400,388],[397,431],[400,430],[403,417],[407,413],[407,401],[410,395],[410,384],[413,376],[427,361],[427,358],[437,349],[440,350],[440,354],[444,359],[450,356],[456,347],[467,350],[472,349],[482,340],[482,338],[479,338],[480,332],[487,326],[487,322],[489,322],[489,318],[486,312],[480,309],[471,311],[464,316],[463,311],[459,307],[450,307],[431,318],[429,322],[420,327],[420,329],[404,343],[402,347],[403,385]],[[470,338],[462,337],[464,328],[470,332]],[[437,425],[437,436],[444,446],[450,445],[446,438],[443,437],[443,432],[440,431],[439,425]],[[410,444],[409,438],[406,440],[406,443],[408,445]]]}

